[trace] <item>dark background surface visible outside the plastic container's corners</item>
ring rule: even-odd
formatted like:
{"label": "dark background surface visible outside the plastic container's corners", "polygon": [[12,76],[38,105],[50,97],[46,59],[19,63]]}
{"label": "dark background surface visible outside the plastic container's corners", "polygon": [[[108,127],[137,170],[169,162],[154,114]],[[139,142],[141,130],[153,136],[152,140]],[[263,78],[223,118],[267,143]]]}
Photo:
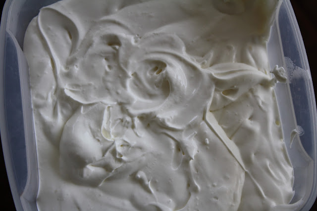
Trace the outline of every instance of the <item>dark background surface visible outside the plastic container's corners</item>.
{"label": "dark background surface visible outside the plastic container's corners", "polygon": [[[317,1],[316,0],[291,0],[299,28],[304,40],[308,62],[310,65],[315,95],[317,96]],[[3,2],[0,3],[2,11]],[[2,65],[2,64],[1,64]],[[0,194],[3,211],[14,211],[14,203],[6,176],[5,165],[0,146]],[[317,210],[317,201],[311,211]]]}

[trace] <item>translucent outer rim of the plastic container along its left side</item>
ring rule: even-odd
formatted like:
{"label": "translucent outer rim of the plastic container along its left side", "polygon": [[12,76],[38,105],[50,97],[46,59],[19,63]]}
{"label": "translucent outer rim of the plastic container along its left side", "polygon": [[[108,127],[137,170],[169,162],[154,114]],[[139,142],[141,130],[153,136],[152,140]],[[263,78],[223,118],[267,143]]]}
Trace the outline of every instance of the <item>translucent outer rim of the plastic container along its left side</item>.
{"label": "translucent outer rim of the plastic container along its left side", "polygon": [[4,105],[4,50],[5,50],[5,35],[6,35],[6,26],[7,19],[10,13],[10,9],[12,6],[12,0],[6,0],[2,10],[1,16],[1,24],[0,24],[0,131],[1,131],[1,144],[2,151],[5,163],[5,169],[11,189],[12,198],[14,201],[14,205],[16,210],[22,211],[22,204],[20,200],[20,196],[17,191],[17,185],[15,181],[14,169],[11,161],[11,154],[9,153],[8,146],[8,134],[7,134],[7,125],[6,125],[6,114],[5,114],[5,105]]}

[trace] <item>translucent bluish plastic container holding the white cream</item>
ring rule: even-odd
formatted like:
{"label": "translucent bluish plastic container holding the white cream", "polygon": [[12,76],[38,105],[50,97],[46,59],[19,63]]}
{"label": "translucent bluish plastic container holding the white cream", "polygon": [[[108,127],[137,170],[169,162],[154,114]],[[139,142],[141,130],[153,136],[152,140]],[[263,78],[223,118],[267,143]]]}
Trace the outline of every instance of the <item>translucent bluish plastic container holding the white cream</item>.
{"label": "translucent bluish plastic container holding the white cream", "polygon": [[[0,131],[6,171],[17,211],[36,211],[38,167],[28,65],[21,50],[26,28],[43,6],[57,0],[7,0],[0,28]],[[276,85],[284,140],[294,167],[295,196],[308,211],[317,196],[317,114],[306,51],[294,11],[283,0],[268,42],[269,63],[288,74]],[[297,134],[293,131],[297,129]],[[291,138],[294,138],[292,146]]]}

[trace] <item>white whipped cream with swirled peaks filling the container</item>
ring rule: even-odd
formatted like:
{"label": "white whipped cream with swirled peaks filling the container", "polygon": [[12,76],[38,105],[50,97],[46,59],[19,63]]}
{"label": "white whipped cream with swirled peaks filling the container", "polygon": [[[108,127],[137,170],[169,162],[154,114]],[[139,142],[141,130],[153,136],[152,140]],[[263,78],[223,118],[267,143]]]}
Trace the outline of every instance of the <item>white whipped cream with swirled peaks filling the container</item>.
{"label": "white whipped cream with swirled peaks filling the container", "polygon": [[[277,0],[62,0],[30,23],[40,211],[277,210]],[[283,207],[287,209],[287,206]]]}

